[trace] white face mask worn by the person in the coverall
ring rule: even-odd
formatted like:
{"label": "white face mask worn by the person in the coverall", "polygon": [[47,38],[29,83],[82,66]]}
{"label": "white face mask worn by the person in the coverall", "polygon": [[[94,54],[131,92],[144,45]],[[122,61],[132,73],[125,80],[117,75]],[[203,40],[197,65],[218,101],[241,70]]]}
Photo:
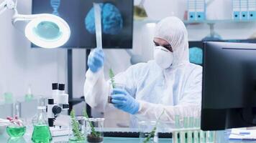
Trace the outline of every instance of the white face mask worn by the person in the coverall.
{"label": "white face mask worn by the person in the coverall", "polygon": [[173,64],[173,53],[163,46],[155,46],[155,62],[163,69],[167,69]]}

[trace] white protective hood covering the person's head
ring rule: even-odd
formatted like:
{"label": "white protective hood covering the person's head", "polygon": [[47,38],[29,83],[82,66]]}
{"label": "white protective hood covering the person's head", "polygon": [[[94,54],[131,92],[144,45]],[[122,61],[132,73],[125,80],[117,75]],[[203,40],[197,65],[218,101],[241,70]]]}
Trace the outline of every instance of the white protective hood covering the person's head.
{"label": "white protective hood covering the person's head", "polygon": [[188,31],[183,21],[175,16],[167,17],[157,23],[155,38],[164,39],[173,48],[173,67],[189,63]]}

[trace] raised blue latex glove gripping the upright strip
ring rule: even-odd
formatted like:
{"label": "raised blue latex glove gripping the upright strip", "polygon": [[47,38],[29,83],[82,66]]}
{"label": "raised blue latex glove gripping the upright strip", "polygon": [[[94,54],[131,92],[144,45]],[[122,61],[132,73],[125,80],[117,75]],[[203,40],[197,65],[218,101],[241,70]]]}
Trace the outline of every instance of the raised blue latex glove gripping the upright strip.
{"label": "raised blue latex glove gripping the upright strip", "polygon": [[88,56],[88,67],[93,73],[99,71],[104,65],[104,52],[102,49],[96,48],[91,51]]}

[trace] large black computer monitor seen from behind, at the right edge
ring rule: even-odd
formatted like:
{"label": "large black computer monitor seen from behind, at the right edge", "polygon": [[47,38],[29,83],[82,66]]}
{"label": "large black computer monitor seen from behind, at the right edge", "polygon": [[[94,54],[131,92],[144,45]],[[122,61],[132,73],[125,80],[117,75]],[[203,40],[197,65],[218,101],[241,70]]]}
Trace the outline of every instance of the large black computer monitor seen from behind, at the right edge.
{"label": "large black computer monitor seen from behind, at the right edge", "polygon": [[256,125],[256,44],[204,43],[201,129]]}

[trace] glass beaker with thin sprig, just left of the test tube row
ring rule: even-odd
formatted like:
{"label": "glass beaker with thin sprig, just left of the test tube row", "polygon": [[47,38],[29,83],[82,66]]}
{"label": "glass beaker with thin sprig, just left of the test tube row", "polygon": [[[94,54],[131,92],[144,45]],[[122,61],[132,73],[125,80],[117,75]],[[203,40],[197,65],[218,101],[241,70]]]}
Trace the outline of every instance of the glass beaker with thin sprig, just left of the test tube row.
{"label": "glass beaker with thin sprig, just left of the test tube row", "polygon": [[140,143],[157,143],[158,142],[157,122],[155,121],[139,122],[139,129],[140,129]]}

